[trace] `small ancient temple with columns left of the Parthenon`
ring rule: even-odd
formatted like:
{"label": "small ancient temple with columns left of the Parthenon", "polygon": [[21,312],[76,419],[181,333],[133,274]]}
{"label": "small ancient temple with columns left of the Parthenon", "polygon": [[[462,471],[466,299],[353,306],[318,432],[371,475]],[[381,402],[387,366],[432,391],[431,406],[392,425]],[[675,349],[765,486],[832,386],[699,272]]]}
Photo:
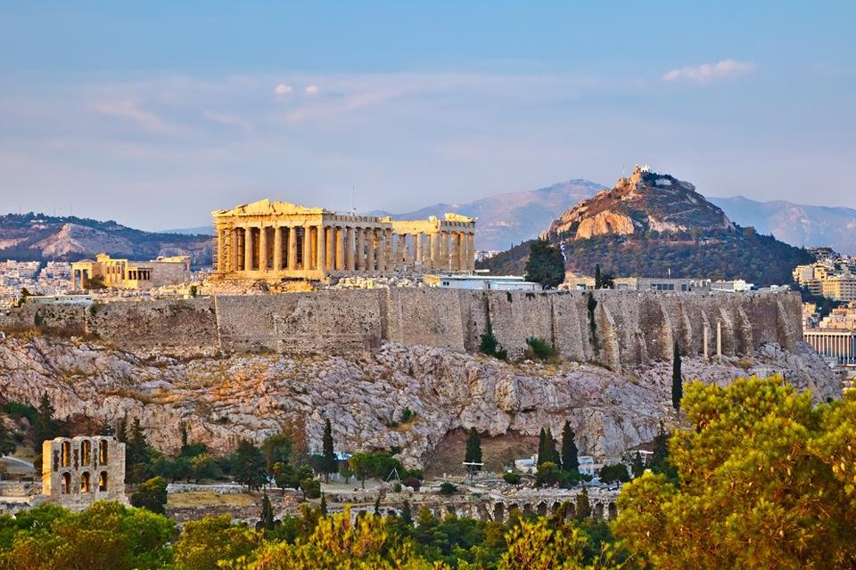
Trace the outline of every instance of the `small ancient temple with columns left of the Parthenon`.
{"label": "small ancient temple with columns left of the Parthenon", "polygon": [[79,291],[98,287],[118,289],[152,289],[164,285],[178,285],[190,278],[190,257],[158,257],[150,261],[112,259],[105,253],[95,261],[76,261],[71,264],[72,289]]}

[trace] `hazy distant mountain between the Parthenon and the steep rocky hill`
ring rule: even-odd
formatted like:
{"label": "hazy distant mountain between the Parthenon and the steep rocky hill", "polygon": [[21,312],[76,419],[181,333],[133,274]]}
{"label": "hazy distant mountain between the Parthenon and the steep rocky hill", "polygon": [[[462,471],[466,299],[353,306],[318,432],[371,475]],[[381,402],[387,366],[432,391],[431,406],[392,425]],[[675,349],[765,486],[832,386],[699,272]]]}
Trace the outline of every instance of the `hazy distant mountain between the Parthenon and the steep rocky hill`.
{"label": "hazy distant mountain between the Parthenon and the steep rocky hill", "polygon": [[434,204],[406,214],[391,215],[383,210],[367,212],[370,216],[392,216],[400,220],[420,220],[455,212],[479,218],[475,247],[501,250],[538,235],[556,212],[590,198],[604,186],[588,180],[569,180],[531,191],[494,194],[465,204]]}

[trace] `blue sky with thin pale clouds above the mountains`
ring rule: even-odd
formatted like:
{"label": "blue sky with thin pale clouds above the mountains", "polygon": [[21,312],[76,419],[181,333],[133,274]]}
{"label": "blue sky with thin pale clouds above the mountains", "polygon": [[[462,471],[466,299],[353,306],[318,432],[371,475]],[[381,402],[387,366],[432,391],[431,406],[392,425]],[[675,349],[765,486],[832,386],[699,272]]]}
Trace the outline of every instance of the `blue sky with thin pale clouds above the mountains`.
{"label": "blue sky with thin pale clouds above the mountains", "polygon": [[403,212],[635,163],[856,208],[854,2],[0,2],[0,211]]}

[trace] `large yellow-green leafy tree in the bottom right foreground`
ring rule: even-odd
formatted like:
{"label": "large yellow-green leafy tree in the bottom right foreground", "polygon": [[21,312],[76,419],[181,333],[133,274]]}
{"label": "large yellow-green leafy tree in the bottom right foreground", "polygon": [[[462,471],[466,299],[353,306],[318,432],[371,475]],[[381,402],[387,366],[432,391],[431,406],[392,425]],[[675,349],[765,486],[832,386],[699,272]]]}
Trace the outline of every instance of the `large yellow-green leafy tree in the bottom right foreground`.
{"label": "large yellow-green leafy tree in the bottom right foreground", "polygon": [[645,473],[619,497],[631,554],[663,570],[856,564],[854,396],[815,406],[781,379],[737,379],[688,384],[683,407],[690,428],[669,442],[679,485]]}

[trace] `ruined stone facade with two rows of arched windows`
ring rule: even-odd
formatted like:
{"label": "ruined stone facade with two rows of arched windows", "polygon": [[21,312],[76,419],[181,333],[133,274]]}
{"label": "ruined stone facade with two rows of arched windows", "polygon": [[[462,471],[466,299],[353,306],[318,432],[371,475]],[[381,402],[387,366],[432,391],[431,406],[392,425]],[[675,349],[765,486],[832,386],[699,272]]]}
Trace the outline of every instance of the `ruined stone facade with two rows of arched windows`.
{"label": "ruined stone facade with two rows of arched windows", "polygon": [[42,444],[42,495],[67,509],[125,496],[125,444],[110,436],[54,437]]}

